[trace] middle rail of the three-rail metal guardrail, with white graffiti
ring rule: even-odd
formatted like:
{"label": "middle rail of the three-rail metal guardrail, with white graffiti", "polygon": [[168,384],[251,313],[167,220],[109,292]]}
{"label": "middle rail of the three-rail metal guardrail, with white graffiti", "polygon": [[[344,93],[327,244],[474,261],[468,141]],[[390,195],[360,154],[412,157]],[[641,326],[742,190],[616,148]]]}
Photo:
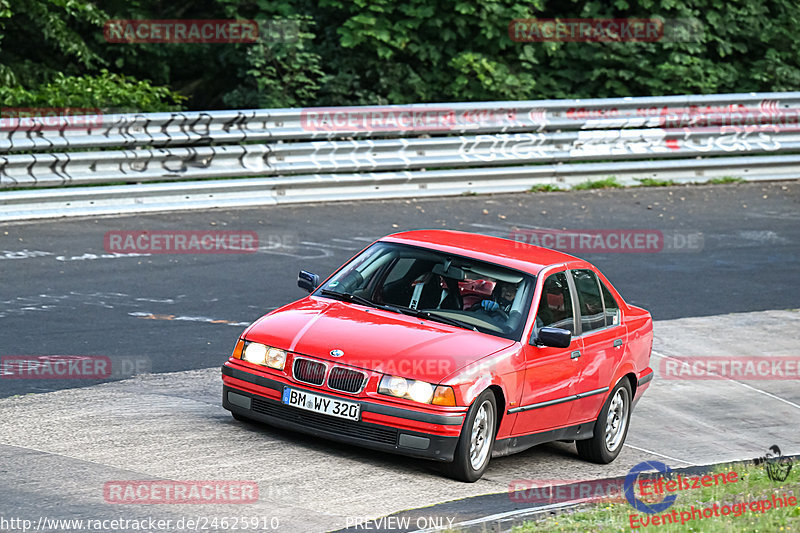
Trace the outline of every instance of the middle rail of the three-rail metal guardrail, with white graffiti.
{"label": "middle rail of the three-rail metal guardrail, with white graffiti", "polygon": [[610,130],[25,154],[0,159],[0,178],[5,187],[52,187],[774,152],[800,152],[800,130],[768,137]]}

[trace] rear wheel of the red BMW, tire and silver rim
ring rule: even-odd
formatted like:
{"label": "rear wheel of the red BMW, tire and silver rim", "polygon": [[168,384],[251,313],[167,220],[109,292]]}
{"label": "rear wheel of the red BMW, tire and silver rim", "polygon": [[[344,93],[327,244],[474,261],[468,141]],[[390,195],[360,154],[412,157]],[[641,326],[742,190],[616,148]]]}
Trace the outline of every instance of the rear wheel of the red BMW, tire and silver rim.
{"label": "rear wheel of the red BMW, tire and silver rim", "polygon": [[579,440],[578,455],[593,463],[608,464],[622,451],[631,418],[631,385],[627,378],[616,384],[594,424],[594,436]]}

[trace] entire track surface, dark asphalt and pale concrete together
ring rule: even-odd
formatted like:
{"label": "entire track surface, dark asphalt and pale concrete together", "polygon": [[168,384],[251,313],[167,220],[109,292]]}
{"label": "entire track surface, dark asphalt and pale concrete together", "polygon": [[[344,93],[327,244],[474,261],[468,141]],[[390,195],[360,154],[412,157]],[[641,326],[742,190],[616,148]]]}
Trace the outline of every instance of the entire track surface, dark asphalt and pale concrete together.
{"label": "entire track surface, dark asphalt and pale concrete together", "polygon": [[[279,530],[326,531],[504,493],[517,479],[624,475],[659,458],[676,467],[752,458],[775,443],[797,453],[796,381],[661,380],[637,406],[612,465],[588,465],[574,446],[556,443],[494,460],[484,479],[459,484],[424,462],[236,423],[219,406],[218,367],[245,325],[302,296],[300,268],[324,277],[375,238],[425,227],[700,233],[701,250],[582,255],[658,321],[654,365],[673,356],[796,356],[800,314],[781,310],[800,307],[798,207],[800,186],[777,182],[0,225],[0,355],[105,355],[156,373],[80,389],[94,383],[0,380],[0,516],[257,513],[276,518]],[[109,230],[206,229],[256,231],[261,249],[142,257],[103,249]],[[729,313],[744,314],[722,316]],[[115,479],[255,479],[261,499],[252,507],[115,506],[102,498],[103,483]],[[439,523],[509,508],[459,505],[436,515]]]}

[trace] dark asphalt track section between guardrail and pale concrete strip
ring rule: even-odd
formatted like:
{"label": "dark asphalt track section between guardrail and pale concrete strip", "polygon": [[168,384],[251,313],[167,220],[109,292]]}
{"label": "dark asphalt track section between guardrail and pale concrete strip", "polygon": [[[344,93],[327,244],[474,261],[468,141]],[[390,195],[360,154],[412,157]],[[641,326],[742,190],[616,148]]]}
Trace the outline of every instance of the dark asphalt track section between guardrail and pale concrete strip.
{"label": "dark asphalt track section between guardrail and pale concrete strip", "polygon": [[[585,253],[655,320],[800,306],[800,184],[472,196],[0,225],[0,355],[100,355],[153,372],[220,365],[243,328],[374,239],[418,228],[702,234],[702,249]],[[112,257],[110,230],[255,231],[255,254]],[[26,258],[27,257],[27,258]],[[0,397],[84,385],[6,380]]]}

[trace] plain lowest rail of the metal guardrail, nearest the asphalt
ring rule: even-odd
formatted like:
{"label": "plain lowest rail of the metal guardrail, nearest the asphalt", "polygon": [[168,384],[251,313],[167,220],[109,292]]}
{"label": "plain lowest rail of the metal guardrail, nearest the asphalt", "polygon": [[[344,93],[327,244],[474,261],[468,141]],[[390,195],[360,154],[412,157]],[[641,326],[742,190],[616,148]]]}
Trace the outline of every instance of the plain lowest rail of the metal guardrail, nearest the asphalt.
{"label": "plain lowest rail of the metal guardrail, nearest the asphalt", "polygon": [[61,216],[134,214],[221,207],[257,207],[472,193],[522,192],[531,184],[560,188],[615,176],[619,183],[670,179],[676,183],[727,176],[747,180],[800,178],[800,155],[748,156],[613,163],[545,164],[488,169],[417,170],[66,187],[0,193],[0,221]]}

